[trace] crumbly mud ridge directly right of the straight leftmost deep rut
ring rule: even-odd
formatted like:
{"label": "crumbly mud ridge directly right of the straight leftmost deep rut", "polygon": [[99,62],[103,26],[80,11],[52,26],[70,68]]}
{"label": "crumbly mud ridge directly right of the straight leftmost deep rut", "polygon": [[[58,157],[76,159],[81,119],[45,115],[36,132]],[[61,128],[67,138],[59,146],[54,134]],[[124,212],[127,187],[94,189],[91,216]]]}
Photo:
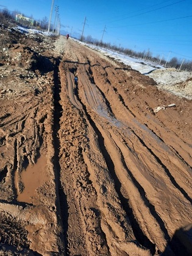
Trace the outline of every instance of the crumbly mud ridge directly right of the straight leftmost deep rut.
{"label": "crumbly mud ridge directly right of the straight leftmost deep rut", "polygon": [[[65,62],[64,62],[65,63]],[[63,64],[64,64],[63,63]],[[67,63],[67,62],[66,62]],[[65,63],[65,65],[66,65]],[[66,132],[65,142],[63,143],[63,147],[61,152],[64,150],[64,159],[67,165],[68,170],[63,172],[62,180],[63,180],[63,189],[66,191],[68,207],[69,207],[69,229],[67,231],[68,240],[69,240],[69,254],[82,254],[82,255],[108,255],[107,242],[105,240],[105,233],[102,232],[101,229],[101,213],[98,209],[98,206],[95,204],[97,193],[93,184],[90,180],[90,173],[87,169],[87,165],[84,162],[84,157],[82,153],[82,146],[84,144],[84,140],[87,141],[87,136],[85,133],[82,133],[82,130],[79,130],[80,126],[87,126],[87,118],[84,115],[84,111],[82,110],[82,105],[77,99],[77,80],[71,80],[70,77],[75,78],[74,74],[76,69],[69,67],[66,65],[66,71],[64,65],[60,67],[60,73],[63,76],[62,79],[62,104],[65,109],[65,115],[68,116],[69,109],[71,108],[70,102],[66,101],[65,96],[65,87],[68,92],[69,98],[74,106],[78,106],[77,109],[73,109],[73,114],[70,115],[70,118],[66,119],[66,116],[63,116],[65,121],[62,121],[61,130],[65,129],[66,125],[68,127],[71,126],[72,131],[68,130]],[[73,73],[71,73],[73,72]],[[66,74],[65,74],[66,73]],[[71,73],[71,74],[68,74]],[[65,77],[65,78],[64,78]],[[66,80],[65,80],[66,79]],[[66,84],[65,84],[66,83]],[[73,91],[74,96],[71,96],[71,91]],[[74,98],[75,101],[74,101]],[[67,103],[66,103],[67,102]],[[78,124],[77,120],[78,118]],[[81,124],[82,123],[82,124]],[[76,129],[74,129],[74,125],[76,125]],[[83,137],[80,133],[84,134]],[[65,132],[64,132],[65,133]],[[77,138],[74,136],[77,135]],[[62,132],[60,133],[60,140],[63,140]],[[78,137],[82,137],[82,143],[78,140]],[[85,137],[85,138],[84,138]],[[73,140],[71,138],[74,138]],[[69,145],[65,146],[65,143]],[[79,144],[79,146],[77,146]],[[76,146],[74,146],[76,145]],[[71,146],[71,147],[70,147]],[[77,151],[73,152],[77,147]],[[63,161],[64,161],[63,159]],[[65,164],[63,163],[63,168],[65,168]],[[75,171],[74,171],[75,170]],[[64,169],[63,169],[64,171]],[[66,182],[67,180],[67,182]],[[76,187],[74,191],[73,188]],[[72,205],[74,204],[74,205]],[[76,216],[74,216],[74,214]],[[80,225],[80,230],[77,229],[77,226],[72,228],[71,221],[78,223]],[[79,237],[74,239],[74,230]],[[78,247],[76,243],[80,241],[81,247]]]}

